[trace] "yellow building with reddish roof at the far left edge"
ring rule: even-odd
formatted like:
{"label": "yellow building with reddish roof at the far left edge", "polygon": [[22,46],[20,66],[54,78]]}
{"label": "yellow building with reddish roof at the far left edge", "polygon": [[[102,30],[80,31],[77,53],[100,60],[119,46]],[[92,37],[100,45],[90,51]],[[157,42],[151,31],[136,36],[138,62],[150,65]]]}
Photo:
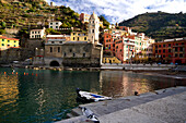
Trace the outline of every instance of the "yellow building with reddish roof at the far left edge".
{"label": "yellow building with reddish roof at the far left edge", "polygon": [[20,48],[20,40],[16,38],[8,38],[0,36],[0,50],[7,50],[9,48]]}

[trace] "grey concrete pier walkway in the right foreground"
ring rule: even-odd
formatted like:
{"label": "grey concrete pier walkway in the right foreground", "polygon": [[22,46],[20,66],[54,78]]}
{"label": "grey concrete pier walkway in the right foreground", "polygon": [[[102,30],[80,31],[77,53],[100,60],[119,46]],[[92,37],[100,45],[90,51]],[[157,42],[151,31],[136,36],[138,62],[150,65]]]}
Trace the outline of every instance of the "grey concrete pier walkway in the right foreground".
{"label": "grey concrete pier walkway in the right foreground", "polygon": [[[89,108],[101,123],[186,123],[186,87],[172,87],[79,107]],[[88,123],[80,108],[72,110],[72,114],[79,116],[58,123]]]}

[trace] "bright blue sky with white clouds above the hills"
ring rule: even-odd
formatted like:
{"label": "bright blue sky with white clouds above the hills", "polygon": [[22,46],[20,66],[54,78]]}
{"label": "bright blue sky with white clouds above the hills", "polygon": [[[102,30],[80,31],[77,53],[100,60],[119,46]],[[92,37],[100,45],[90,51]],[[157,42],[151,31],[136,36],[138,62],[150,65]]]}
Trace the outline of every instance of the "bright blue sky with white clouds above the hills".
{"label": "bright blue sky with white clouds above the hills", "polygon": [[55,5],[70,7],[75,12],[104,15],[111,23],[119,23],[146,12],[186,13],[186,0],[46,0]]}

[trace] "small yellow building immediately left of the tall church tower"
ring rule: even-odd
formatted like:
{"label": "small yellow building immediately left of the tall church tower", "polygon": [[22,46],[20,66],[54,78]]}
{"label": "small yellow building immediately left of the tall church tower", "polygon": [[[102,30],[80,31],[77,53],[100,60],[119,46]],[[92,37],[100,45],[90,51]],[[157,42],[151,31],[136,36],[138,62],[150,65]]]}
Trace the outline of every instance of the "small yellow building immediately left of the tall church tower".
{"label": "small yellow building immediately left of the tall church tower", "polygon": [[88,41],[86,32],[72,32],[70,35],[71,41]]}

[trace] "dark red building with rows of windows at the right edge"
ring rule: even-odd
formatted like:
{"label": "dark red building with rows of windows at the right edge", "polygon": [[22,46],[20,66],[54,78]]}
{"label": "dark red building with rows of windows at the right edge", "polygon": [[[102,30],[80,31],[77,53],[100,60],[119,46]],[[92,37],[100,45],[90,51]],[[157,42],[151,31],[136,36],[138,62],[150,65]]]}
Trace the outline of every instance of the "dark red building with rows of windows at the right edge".
{"label": "dark red building with rows of windows at the right edge", "polygon": [[163,63],[186,64],[186,37],[154,44],[153,54]]}

